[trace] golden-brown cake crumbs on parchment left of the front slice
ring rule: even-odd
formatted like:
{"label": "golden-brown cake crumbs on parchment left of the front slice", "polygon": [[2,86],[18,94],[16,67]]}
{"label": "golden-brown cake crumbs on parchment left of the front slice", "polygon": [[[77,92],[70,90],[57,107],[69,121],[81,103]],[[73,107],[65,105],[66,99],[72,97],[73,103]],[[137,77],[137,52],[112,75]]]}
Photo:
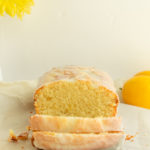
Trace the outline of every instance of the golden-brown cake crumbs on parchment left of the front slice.
{"label": "golden-brown cake crumbs on parchment left of the front slice", "polygon": [[28,139],[28,135],[29,135],[28,132],[23,132],[23,133],[19,134],[18,136],[16,136],[16,135],[14,134],[14,131],[13,131],[13,130],[9,130],[9,138],[8,138],[8,141],[9,141],[9,142],[18,142],[18,140],[24,141],[24,140],[27,140],[27,139]]}

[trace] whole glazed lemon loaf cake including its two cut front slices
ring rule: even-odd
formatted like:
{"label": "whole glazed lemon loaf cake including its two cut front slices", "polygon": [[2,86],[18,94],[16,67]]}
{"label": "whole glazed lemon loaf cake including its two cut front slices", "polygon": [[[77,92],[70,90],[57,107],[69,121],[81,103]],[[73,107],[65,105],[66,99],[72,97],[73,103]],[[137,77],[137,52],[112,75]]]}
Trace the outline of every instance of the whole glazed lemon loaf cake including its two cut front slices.
{"label": "whole glazed lemon loaf cake including its two cut front slices", "polygon": [[119,103],[107,73],[92,67],[53,68],[39,80],[33,145],[45,150],[119,150],[124,141]]}

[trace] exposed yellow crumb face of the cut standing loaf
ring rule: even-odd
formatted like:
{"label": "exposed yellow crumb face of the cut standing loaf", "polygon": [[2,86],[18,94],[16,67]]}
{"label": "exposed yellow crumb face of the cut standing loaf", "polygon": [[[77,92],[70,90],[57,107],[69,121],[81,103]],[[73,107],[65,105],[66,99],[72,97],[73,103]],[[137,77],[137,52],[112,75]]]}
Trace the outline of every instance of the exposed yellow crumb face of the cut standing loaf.
{"label": "exposed yellow crumb face of the cut standing loaf", "polygon": [[34,95],[37,114],[76,117],[112,117],[117,96],[88,81],[57,81],[44,85]]}

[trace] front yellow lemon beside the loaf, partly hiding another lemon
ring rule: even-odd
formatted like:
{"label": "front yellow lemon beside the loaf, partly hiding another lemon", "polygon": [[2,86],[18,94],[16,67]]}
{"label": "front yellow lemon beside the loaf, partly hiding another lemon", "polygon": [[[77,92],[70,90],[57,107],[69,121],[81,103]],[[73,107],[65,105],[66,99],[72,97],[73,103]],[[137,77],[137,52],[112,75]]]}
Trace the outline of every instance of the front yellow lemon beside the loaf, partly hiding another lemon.
{"label": "front yellow lemon beside the loaf, partly hiding another lemon", "polygon": [[134,76],[123,86],[125,103],[150,109],[150,76]]}

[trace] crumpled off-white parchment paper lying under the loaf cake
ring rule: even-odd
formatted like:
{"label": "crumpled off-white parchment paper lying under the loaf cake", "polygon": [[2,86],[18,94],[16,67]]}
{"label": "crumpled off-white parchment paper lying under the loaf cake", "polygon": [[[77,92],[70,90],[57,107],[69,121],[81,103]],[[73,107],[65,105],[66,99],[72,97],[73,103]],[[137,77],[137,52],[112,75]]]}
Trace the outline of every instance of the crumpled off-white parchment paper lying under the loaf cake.
{"label": "crumpled off-white parchment paper lying under the loaf cake", "polygon": [[[34,114],[36,84],[36,81],[0,82],[0,150],[35,149],[30,140],[10,143],[8,136],[9,129],[16,134],[26,131],[28,119]],[[125,142],[123,150],[150,150],[150,110],[121,103],[118,115],[123,119],[125,132],[137,134],[133,142]]]}

